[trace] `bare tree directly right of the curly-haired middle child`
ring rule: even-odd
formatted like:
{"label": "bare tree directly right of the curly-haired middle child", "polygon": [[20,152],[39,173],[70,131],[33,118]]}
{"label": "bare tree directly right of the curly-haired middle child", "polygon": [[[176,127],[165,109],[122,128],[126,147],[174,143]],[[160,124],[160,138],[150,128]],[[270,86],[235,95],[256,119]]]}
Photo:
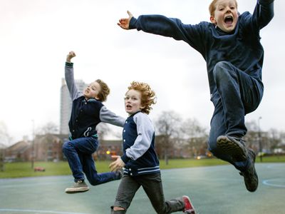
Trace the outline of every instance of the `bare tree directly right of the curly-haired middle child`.
{"label": "bare tree directly right of the curly-haired middle child", "polygon": [[177,137],[180,130],[181,117],[174,111],[162,111],[155,121],[157,134],[160,141],[156,141],[157,147],[161,147],[164,153],[165,164],[168,164],[170,150],[173,148],[172,138]]}

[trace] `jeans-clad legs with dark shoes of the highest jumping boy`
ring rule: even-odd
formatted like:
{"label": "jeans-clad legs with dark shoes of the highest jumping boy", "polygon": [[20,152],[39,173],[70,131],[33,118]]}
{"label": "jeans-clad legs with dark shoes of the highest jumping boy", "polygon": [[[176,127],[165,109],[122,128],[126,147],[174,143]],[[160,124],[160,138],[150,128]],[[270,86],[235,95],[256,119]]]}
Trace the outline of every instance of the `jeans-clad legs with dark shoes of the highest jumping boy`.
{"label": "jeans-clad legs with dark shoes of the highest jumping boy", "polygon": [[212,96],[215,109],[209,149],[214,156],[241,170],[247,190],[253,192],[258,185],[255,154],[245,147],[242,137],[247,133],[244,116],[259,106],[263,95],[262,83],[224,61],[214,67],[214,81],[217,88]]}

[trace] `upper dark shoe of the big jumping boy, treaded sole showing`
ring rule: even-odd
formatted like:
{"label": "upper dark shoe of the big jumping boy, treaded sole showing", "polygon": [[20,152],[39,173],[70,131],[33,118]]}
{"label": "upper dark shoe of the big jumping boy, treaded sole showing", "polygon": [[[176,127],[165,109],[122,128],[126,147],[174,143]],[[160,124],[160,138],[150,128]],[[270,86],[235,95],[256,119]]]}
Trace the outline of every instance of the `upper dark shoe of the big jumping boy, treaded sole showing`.
{"label": "upper dark shoe of the big jumping boy, treaded sole showing", "polygon": [[247,149],[242,138],[233,136],[219,136],[217,138],[217,146],[223,153],[232,156],[232,161],[247,161]]}

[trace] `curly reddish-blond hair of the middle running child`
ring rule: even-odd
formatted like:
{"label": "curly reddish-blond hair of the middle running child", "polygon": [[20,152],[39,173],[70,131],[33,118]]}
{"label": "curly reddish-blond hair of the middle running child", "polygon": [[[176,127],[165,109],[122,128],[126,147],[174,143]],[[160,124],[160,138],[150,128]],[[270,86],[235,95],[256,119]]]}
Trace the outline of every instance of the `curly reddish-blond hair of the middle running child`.
{"label": "curly reddish-blond hair of the middle running child", "polygon": [[149,114],[150,110],[152,110],[152,107],[150,106],[156,103],[155,91],[152,91],[147,83],[141,83],[137,81],[133,81],[130,83],[130,86],[128,86],[128,90],[132,89],[135,91],[140,91],[142,95],[140,104],[142,106],[145,106],[145,108],[142,108],[142,112]]}

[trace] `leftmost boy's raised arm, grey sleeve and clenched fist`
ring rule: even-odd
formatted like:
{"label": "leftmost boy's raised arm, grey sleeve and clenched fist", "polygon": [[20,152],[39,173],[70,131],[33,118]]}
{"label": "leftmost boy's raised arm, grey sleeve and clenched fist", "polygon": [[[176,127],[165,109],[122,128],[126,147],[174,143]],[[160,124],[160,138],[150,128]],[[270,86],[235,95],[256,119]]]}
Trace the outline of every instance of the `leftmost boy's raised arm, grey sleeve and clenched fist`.
{"label": "leftmost boy's raised arm, grey sleeve and clenched fist", "polygon": [[78,92],[78,89],[74,82],[73,63],[71,62],[71,58],[75,56],[76,54],[73,51],[68,53],[68,55],[66,56],[66,67],[65,67],[66,85],[68,87],[68,91],[70,93],[72,101],[78,98],[78,96],[81,96],[81,93]]}

